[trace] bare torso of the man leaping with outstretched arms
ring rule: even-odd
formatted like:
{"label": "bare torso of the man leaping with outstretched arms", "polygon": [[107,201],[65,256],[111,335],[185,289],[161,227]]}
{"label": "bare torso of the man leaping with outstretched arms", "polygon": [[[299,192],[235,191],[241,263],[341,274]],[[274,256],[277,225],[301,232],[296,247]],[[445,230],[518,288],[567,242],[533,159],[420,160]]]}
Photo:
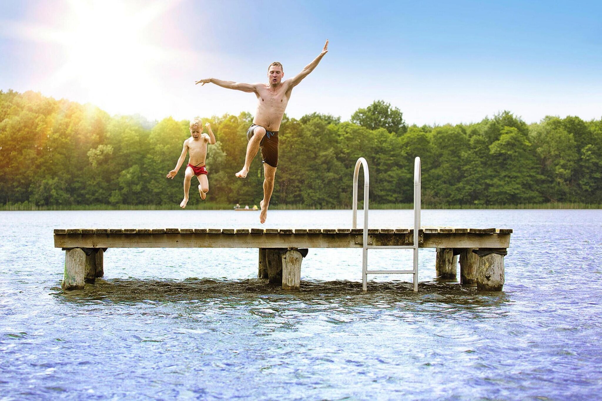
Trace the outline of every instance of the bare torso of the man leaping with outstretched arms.
{"label": "bare torso of the man leaping with outstretched arms", "polygon": [[278,131],[287,109],[291,91],[287,91],[288,83],[282,82],[278,87],[259,85],[257,91],[257,112],[253,124],[260,125],[268,131]]}

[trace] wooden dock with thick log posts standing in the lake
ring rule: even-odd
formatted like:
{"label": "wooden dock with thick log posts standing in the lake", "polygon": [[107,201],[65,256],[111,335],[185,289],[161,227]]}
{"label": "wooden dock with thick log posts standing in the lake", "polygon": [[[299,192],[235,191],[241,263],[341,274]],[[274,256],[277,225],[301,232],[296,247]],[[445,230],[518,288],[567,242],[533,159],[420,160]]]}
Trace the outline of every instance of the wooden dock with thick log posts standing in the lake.
{"label": "wooden dock with thick log posts standing in the lake", "polygon": [[[258,276],[298,290],[304,248],[362,248],[362,228],[69,228],[54,230],[54,246],[66,251],[62,287],[82,289],[104,275],[107,248],[258,248]],[[461,283],[500,291],[503,256],[511,229],[423,227],[419,248],[436,248],[436,274],[454,280],[458,256]],[[371,247],[413,246],[414,230],[368,229]]]}

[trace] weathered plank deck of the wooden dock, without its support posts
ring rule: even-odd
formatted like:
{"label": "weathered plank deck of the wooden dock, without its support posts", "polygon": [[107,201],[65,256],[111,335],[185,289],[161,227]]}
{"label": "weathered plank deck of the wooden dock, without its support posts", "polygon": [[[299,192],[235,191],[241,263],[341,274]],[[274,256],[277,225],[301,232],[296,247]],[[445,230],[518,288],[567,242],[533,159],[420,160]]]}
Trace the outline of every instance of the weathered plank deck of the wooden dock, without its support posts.
{"label": "weathered plank deck of the wooden dock, without its support posts", "polygon": [[[508,248],[511,229],[424,228],[420,248]],[[414,230],[368,230],[374,246],[413,245]],[[58,248],[361,248],[361,228],[96,228],[54,230]]]}

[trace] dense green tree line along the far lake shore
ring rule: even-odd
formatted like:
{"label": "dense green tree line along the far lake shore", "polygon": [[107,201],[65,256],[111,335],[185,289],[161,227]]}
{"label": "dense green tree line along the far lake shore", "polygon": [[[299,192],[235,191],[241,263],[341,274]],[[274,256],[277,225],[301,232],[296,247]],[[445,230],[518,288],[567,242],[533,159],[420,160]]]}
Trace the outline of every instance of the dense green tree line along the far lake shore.
{"label": "dense green tree line along the far lake shore", "polygon": [[[191,116],[194,117],[194,116]],[[252,115],[205,117],[208,201],[258,204],[258,156],[244,161]],[[188,138],[188,121],[111,116],[92,105],[28,91],[0,91],[0,203],[38,206],[177,205],[184,170],[166,179]],[[509,111],[470,124],[408,126],[382,100],[350,121],[332,115],[286,115],[272,204],[347,207],[359,157],[370,168],[370,201],[411,203],[414,158],[422,161],[422,200],[437,205],[600,203],[602,119],[545,117],[527,124]],[[362,179],[361,179],[362,180]],[[200,203],[191,197],[191,204]]]}

